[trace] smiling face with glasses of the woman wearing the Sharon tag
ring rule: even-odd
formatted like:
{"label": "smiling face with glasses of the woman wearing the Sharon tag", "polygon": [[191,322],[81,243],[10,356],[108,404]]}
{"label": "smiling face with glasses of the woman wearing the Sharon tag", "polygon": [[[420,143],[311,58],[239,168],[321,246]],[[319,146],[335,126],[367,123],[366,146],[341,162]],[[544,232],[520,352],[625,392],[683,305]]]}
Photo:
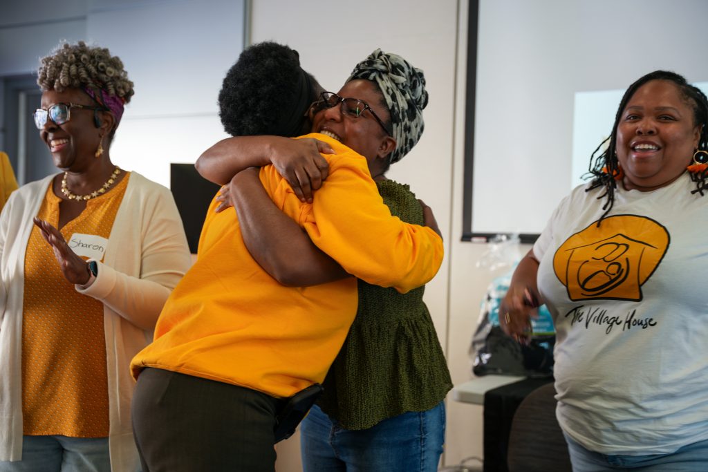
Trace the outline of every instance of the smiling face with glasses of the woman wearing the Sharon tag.
{"label": "smiling face with glasses of the woman wearing the Sharon tag", "polygon": [[[50,90],[42,93],[41,108],[48,110],[57,103],[96,106],[91,97],[78,88],[68,88],[63,92]],[[93,122],[93,110],[71,108],[69,113],[71,119],[63,125],[57,125],[52,120],[47,120],[45,126],[40,129],[40,138],[49,147],[55,166],[62,171],[84,171],[93,161],[97,161],[94,158],[94,153],[98,148],[101,134],[103,136],[106,134],[106,127],[110,125],[110,117],[108,113],[98,112],[102,125],[97,128]]]}

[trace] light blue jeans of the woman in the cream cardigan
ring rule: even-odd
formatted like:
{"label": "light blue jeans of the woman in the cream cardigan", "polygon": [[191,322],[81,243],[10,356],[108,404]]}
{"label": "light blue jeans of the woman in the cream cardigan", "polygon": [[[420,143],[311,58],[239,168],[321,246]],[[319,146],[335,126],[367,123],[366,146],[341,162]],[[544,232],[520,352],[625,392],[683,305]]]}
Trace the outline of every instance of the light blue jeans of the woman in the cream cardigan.
{"label": "light blue jeans of the woman in the cream cardigan", "polygon": [[107,437],[23,436],[22,460],[0,472],[110,472]]}

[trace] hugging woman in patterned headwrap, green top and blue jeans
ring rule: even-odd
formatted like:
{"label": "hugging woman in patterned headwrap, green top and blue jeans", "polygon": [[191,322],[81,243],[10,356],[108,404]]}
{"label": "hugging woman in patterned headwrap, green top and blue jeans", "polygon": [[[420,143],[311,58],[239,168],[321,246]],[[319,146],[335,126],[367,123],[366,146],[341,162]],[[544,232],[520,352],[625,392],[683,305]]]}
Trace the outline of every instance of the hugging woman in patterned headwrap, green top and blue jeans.
{"label": "hugging woman in patterned headwrap, green top and blue jeans", "polygon": [[[406,185],[387,180],[384,173],[421,136],[427,99],[423,71],[397,54],[375,50],[357,64],[338,93],[323,93],[309,113],[314,117],[312,129],[359,149],[366,149],[367,139],[349,129],[358,120],[370,120],[372,125],[378,122],[374,133],[383,131],[384,136],[395,137],[394,150],[384,146],[375,153],[365,151],[368,168],[392,214],[418,224],[429,209],[421,208]],[[217,159],[219,166],[211,162],[200,167],[222,183],[224,173],[242,166],[241,154],[248,153],[236,144],[264,140],[270,140],[269,159],[282,175],[310,175],[308,159],[316,161],[319,154],[299,156],[296,142],[277,137],[226,139],[198,163]],[[316,253],[310,257],[306,250],[287,248],[303,238],[309,241],[302,231],[286,233],[284,221],[262,217],[263,207],[268,205],[263,198],[256,202],[260,183],[246,186],[250,183],[240,175],[238,180],[238,185],[231,185],[231,200],[241,221],[249,226],[244,224],[244,241],[258,263],[281,283],[299,286],[327,280]],[[303,180],[303,189],[308,184],[318,186]],[[303,196],[306,192],[303,190]],[[421,383],[420,379],[426,381]],[[423,303],[423,287],[399,294],[359,281],[355,321],[323,386],[323,395],[302,423],[305,471],[437,470],[445,436],[442,400],[452,381]]]}

